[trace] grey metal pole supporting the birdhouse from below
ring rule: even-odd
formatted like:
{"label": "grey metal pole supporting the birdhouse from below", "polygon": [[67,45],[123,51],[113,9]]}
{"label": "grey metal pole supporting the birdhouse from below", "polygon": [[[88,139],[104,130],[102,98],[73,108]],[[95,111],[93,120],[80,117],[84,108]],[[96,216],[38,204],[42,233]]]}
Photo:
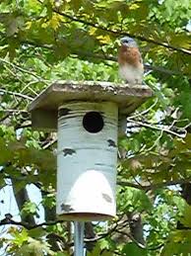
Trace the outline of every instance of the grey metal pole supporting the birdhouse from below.
{"label": "grey metal pole supporting the birdhouse from below", "polygon": [[74,222],[74,255],[84,256],[84,231],[85,222]]}

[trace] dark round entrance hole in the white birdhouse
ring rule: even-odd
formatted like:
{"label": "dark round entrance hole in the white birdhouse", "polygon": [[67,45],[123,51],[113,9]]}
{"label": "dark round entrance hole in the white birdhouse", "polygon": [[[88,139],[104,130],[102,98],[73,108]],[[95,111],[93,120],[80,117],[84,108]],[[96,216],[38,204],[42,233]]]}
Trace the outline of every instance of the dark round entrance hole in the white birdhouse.
{"label": "dark round entrance hole in the white birdhouse", "polygon": [[98,112],[89,112],[84,116],[83,127],[89,132],[96,133],[104,126],[102,116]]}

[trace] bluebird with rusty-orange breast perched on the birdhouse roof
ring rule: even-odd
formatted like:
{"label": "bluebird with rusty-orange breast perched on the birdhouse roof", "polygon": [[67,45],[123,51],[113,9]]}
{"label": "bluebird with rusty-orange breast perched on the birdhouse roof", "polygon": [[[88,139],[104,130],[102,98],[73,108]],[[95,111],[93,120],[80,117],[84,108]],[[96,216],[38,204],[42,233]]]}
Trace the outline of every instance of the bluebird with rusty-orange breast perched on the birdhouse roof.
{"label": "bluebird with rusty-orange breast perched on the birdhouse roof", "polygon": [[142,84],[144,65],[138,44],[131,38],[120,40],[118,53],[119,74],[129,84]]}

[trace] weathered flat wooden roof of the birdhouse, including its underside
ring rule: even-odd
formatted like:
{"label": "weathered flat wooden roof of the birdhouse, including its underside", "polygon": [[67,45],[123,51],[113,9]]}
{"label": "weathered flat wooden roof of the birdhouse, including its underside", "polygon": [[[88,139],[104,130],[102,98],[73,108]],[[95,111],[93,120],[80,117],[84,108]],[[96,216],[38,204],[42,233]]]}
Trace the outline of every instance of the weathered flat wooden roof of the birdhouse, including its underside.
{"label": "weathered flat wooden roof of the birdhouse, including its underside", "polygon": [[98,81],[56,81],[45,88],[31,103],[33,128],[57,128],[57,110],[64,103],[114,102],[119,116],[128,116],[153,95],[147,85],[116,84]]}

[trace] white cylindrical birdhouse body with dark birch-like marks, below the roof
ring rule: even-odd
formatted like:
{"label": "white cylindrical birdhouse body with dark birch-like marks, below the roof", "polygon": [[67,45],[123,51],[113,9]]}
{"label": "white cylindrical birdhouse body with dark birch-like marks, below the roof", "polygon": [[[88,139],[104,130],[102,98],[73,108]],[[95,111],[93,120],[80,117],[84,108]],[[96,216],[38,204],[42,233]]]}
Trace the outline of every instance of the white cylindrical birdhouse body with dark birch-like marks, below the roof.
{"label": "white cylindrical birdhouse body with dark birch-like marks, below the roof", "polygon": [[[98,112],[103,118],[104,126],[97,133],[83,127],[83,118],[89,112]],[[61,106],[59,113],[57,214],[73,220],[114,216],[117,105],[71,102]]]}

